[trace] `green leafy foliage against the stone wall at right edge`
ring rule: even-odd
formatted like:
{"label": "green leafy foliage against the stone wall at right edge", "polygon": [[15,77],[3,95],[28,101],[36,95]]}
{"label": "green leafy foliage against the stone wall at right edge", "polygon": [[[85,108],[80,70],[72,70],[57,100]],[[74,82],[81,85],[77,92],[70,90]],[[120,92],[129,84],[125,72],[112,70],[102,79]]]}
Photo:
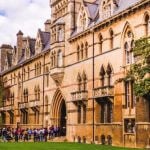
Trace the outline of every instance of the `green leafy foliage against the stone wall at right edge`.
{"label": "green leafy foliage against the stone wall at right edge", "polygon": [[[138,97],[150,97],[150,37],[135,41],[135,63],[131,65],[126,79],[134,80],[134,93]],[[125,80],[126,80],[125,79]]]}

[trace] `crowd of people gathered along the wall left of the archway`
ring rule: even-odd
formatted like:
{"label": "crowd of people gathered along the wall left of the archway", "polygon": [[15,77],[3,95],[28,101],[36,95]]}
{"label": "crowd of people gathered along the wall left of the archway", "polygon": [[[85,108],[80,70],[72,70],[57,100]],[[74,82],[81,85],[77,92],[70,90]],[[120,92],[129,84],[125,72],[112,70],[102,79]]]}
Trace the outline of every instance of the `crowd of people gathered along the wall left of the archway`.
{"label": "crowd of people gathered along the wall left of the archway", "polygon": [[0,137],[3,142],[7,141],[34,141],[47,142],[57,136],[63,136],[64,129],[60,127],[51,126],[49,128],[0,128]]}

